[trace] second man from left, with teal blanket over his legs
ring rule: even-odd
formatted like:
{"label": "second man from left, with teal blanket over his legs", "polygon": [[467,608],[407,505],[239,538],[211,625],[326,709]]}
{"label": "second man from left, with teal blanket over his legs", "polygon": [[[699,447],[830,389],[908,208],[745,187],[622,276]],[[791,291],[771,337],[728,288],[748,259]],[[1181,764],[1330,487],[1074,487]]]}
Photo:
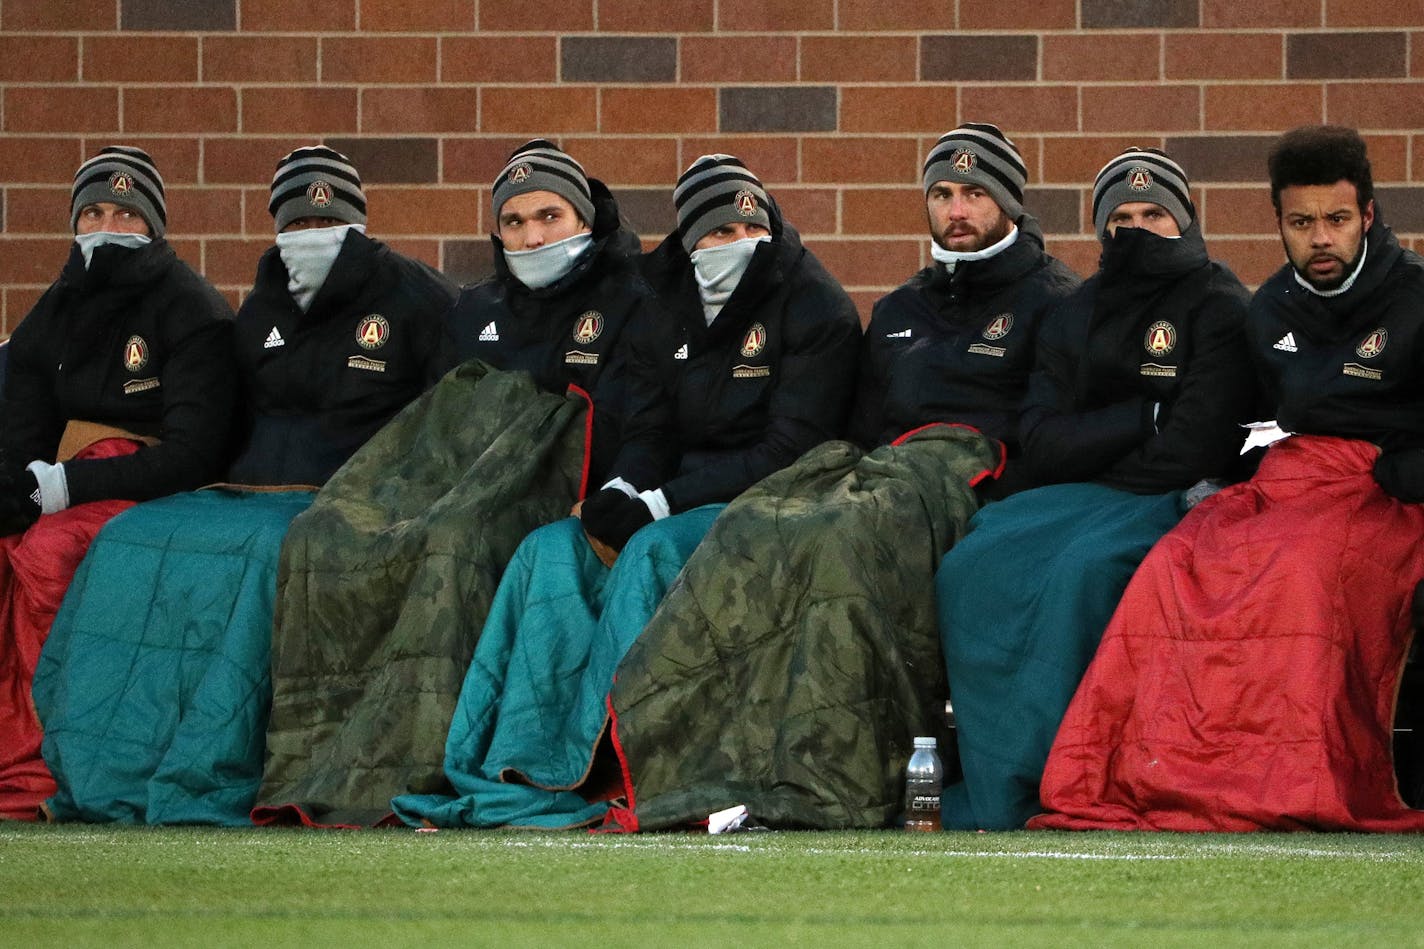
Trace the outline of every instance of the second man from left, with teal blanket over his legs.
{"label": "second man from left, with teal blanket over his legs", "polygon": [[268,211],[276,245],[236,318],[245,442],[228,480],[298,490],[175,494],[95,539],[34,683],[56,819],[248,824],[288,526],[453,365],[454,286],[366,237],[345,155],[282,158]]}

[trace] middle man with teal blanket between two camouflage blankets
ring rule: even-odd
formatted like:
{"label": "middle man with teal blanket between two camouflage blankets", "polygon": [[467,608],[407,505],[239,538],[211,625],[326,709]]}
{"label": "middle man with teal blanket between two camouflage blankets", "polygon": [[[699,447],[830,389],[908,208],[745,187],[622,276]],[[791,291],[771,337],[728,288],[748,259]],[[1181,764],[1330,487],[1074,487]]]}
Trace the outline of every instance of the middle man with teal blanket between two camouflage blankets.
{"label": "middle man with teal blanket between two camouflage blankets", "polygon": [[656,308],[629,328],[611,479],[581,519],[520,544],[446,744],[454,795],[397,798],[410,824],[602,816],[591,764],[622,651],[723,504],[844,425],[854,305],[762,182],[732,155],[703,155],[674,204],[678,229],[644,262]]}

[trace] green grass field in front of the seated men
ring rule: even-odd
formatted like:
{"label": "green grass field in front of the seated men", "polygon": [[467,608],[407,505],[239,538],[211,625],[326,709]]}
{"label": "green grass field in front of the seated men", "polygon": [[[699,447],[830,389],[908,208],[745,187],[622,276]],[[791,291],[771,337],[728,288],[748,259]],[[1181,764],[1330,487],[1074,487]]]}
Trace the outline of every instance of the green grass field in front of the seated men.
{"label": "green grass field in front of the seated men", "polygon": [[1424,839],[0,825],[0,946],[1424,945]]}

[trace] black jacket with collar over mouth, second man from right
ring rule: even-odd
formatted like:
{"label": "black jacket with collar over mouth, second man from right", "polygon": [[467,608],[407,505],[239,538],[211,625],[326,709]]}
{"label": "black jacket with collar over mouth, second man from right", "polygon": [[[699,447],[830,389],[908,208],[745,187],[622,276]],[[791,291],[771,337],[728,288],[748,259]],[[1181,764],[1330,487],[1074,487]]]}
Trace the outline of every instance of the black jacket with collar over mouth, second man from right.
{"label": "black jacket with collar over mouth, second man from right", "polygon": [[1038,336],[1020,427],[1034,476],[1139,494],[1230,477],[1255,400],[1246,305],[1196,222],[1104,238],[1101,269]]}

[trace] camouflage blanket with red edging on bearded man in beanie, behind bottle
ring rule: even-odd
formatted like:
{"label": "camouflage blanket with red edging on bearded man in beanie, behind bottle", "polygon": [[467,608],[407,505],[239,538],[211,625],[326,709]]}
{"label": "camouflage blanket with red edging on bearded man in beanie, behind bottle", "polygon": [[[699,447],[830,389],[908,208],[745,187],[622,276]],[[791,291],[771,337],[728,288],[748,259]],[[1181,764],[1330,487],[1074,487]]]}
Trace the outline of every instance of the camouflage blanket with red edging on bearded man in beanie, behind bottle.
{"label": "camouflage blanket with red edging on bearded man in beanie, behind bottle", "polygon": [[934,569],[1000,446],[964,427],[807,452],[732,502],[618,668],[628,808],[656,829],[745,804],[776,826],[883,826],[914,735],[944,738]]}

